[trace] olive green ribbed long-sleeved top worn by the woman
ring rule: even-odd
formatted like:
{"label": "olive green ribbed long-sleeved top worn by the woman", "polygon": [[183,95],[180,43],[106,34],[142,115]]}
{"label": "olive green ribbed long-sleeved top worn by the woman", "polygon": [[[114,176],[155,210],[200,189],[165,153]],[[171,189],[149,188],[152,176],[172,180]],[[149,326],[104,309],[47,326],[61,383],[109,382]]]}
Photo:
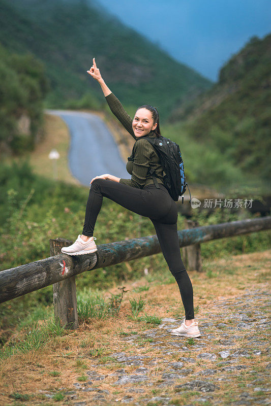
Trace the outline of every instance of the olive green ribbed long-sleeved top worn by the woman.
{"label": "olive green ribbed long-sleeved top worn by the woman", "polygon": [[[155,177],[158,183],[163,183],[163,168],[159,157],[150,143],[143,139],[137,138],[132,127],[132,118],[124,110],[118,98],[110,93],[105,97],[112,113],[122,123],[124,128],[137,140],[134,147],[134,160],[128,161],[126,165],[127,172],[132,175],[131,179],[121,179],[119,183],[142,189],[144,186],[154,183],[153,178],[147,175],[148,169],[154,168]],[[150,131],[148,137],[155,138],[156,134]]]}

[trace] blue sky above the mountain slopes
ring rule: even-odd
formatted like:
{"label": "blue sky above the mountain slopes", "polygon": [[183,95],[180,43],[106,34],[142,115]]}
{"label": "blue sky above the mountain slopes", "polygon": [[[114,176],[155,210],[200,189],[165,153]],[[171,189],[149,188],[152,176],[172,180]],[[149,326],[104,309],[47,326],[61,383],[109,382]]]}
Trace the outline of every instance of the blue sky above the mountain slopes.
{"label": "blue sky above the mountain slopes", "polygon": [[174,59],[217,81],[253,36],[271,32],[270,0],[97,0]]}

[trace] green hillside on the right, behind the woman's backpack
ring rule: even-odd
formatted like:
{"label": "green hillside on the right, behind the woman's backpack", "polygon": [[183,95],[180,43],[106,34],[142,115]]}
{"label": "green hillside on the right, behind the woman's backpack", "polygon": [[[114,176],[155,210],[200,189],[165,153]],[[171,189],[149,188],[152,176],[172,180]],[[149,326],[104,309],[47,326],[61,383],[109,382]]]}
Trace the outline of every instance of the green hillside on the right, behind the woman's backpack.
{"label": "green hillside on the right, behind the woman's backpack", "polygon": [[[219,82],[171,120],[186,121],[189,137],[216,151],[248,182],[270,180],[271,35],[251,38],[222,67]],[[216,171],[216,167],[214,167]]]}

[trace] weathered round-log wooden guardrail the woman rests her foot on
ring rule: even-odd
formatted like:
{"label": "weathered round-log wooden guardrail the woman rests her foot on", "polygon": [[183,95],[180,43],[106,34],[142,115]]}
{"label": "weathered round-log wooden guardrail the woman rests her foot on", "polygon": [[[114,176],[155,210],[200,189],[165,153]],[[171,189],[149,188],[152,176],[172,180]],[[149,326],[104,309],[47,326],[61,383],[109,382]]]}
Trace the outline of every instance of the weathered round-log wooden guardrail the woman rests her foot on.
{"label": "weathered round-log wooden guardrail the woman rests her foot on", "polygon": [[[180,230],[179,246],[187,247],[269,228],[271,216]],[[55,318],[69,328],[77,328],[76,275],[161,252],[156,235],[99,245],[98,251],[93,254],[62,254],[61,248],[72,243],[65,239],[50,240],[51,257],[0,272],[0,303],[53,285]]]}

